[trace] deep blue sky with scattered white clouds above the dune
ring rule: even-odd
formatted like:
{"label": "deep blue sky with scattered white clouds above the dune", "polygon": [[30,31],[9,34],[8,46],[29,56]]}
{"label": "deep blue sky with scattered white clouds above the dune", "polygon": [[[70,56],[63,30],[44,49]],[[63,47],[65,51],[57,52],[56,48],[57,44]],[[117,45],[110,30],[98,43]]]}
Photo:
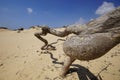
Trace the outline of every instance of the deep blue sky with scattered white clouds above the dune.
{"label": "deep blue sky with scattered white clouds above the dune", "polygon": [[83,24],[120,6],[120,0],[0,0],[0,27]]}

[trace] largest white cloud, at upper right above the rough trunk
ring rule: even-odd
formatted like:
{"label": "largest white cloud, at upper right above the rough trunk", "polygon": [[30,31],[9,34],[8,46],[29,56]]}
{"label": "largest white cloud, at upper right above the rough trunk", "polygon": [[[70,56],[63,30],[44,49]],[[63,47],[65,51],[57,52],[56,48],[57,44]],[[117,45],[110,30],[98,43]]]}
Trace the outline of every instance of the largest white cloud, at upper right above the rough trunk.
{"label": "largest white cloud, at upper right above the rough trunk", "polygon": [[108,12],[114,10],[114,9],[115,9],[115,6],[114,6],[113,3],[103,2],[103,4],[98,7],[95,14],[98,14],[98,15],[106,14],[106,13],[108,13]]}

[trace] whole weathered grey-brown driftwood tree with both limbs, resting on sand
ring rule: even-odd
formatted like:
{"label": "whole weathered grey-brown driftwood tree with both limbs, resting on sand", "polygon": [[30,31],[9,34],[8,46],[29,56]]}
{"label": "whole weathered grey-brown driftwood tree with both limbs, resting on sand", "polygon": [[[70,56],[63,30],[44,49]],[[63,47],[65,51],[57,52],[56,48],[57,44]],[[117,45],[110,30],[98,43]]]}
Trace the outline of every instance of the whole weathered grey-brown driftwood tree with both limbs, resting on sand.
{"label": "whole weathered grey-brown driftwood tree with both limbs, resting on sand", "polygon": [[45,43],[44,47],[48,45],[48,42],[41,38],[41,35],[45,36],[49,33],[65,37],[71,33],[76,34],[63,44],[67,57],[61,76],[66,75],[69,66],[76,59],[88,61],[99,58],[120,42],[120,7],[81,26],[68,26],[64,31],[57,31],[46,26],[42,27],[42,33],[35,33],[35,36]]}

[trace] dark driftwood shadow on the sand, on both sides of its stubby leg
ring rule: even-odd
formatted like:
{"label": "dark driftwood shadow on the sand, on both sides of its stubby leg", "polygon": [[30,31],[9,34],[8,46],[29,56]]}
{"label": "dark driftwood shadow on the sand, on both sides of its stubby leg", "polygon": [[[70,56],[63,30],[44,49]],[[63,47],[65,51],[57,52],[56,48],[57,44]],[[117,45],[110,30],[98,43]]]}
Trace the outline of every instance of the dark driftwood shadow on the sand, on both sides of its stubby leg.
{"label": "dark driftwood shadow on the sand, on both sides of its stubby leg", "polygon": [[[63,62],[58,62],[58,59],[54,58],[51,52],[47,51],[44,54],[49,54],[54,64],[60,64],[60,65],[64,64]],[[98,79],[91,71],[89,71],[87,68],[83,66],[80,66],[78,64],[72,64],[71,66],[75,68],[70,68],[67,74],[77,72],[79,80],[102,80],[100,75],[97,76],[99,78]]]}

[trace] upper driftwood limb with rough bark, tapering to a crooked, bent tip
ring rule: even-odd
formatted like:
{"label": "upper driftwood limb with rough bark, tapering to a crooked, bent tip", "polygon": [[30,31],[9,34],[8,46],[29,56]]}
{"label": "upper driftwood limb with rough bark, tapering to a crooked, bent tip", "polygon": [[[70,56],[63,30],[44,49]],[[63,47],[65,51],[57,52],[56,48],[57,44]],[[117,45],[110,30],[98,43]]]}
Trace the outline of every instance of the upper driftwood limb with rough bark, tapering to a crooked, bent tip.
{"label": "upper driftwood limb with rough bark, tapering to a crooked, bent tip", "polygon": [[[35,33],[35,36],[45,43],[44,47],[48,45],[48,41],[43,39],[40,35],[52,34],[58,37],[65,37],[69,34],[86,35],[95,33],[115,32],[120,33],[120,7],[115,10],[98,17],[85,25],[67,26],[63,31],[57,31],[48,26],[41,27],[42,33]],[[43,49],[43,47],[42,47]]]}

